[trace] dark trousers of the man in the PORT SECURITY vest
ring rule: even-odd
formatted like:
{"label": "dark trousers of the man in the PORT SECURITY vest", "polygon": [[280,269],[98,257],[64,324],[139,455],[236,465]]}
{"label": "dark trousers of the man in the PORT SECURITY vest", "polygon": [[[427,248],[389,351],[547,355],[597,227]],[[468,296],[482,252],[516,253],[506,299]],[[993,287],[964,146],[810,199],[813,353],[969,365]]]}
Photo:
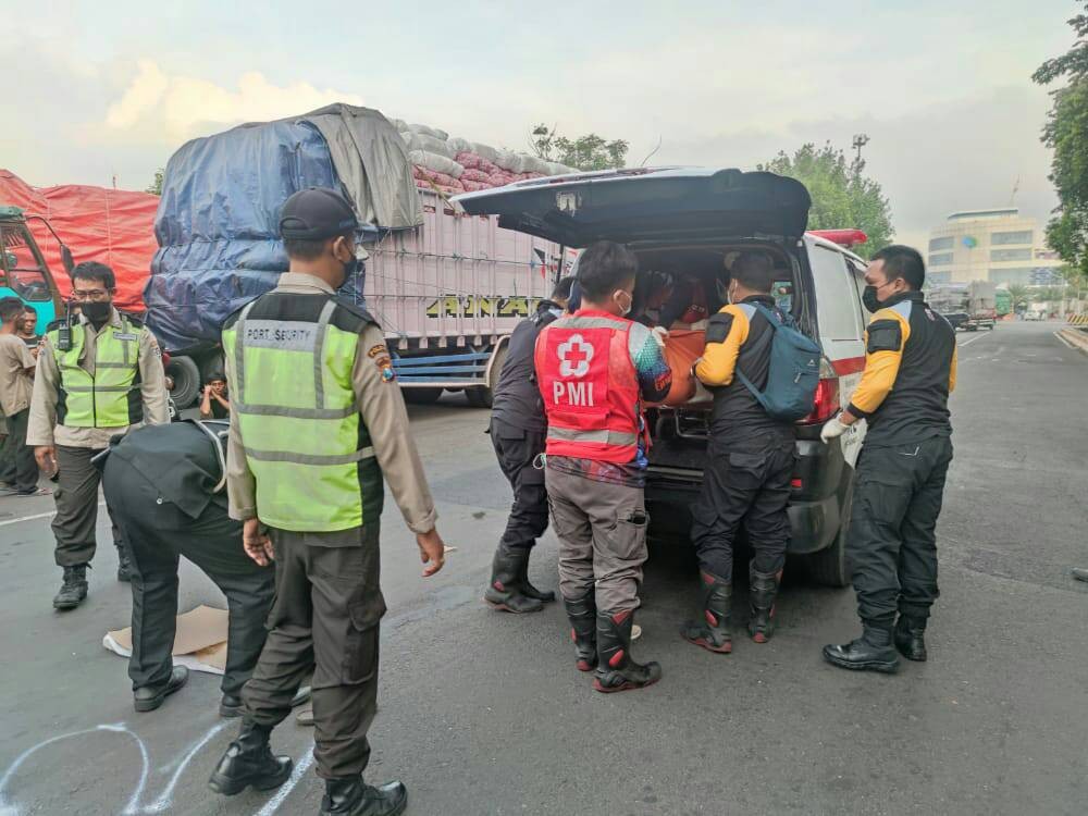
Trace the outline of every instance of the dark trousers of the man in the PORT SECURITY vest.
{"label": "dark trousers of the man in the PORT SECURITY vest", "polygon": [[357,777],[370,761],[367,731],[378,710],[385,614],[379,526],[358,528],[354,546],[325,546],[321,533],[271,534],[276,596],[264,651],[242,694],[246,720],[270,728],[282,722],[312,670],[318,776]]}

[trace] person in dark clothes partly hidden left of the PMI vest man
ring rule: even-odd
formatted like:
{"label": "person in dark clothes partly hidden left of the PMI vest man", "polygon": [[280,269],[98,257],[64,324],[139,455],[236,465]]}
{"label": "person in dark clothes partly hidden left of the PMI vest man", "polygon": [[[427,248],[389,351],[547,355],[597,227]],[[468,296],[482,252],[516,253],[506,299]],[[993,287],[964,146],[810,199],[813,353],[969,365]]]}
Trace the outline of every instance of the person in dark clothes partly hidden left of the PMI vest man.
{"label": "person in dark clothes partly hidden left of the PMI vest man", "polygon": [[535,314],[515,326],[492,401],[487,433],[498,467],[514,489],[514,506],[495,551],[484,599],[505,611],[540,611],[544,604],[555,601],[554,592],[541,592],[529,582],[529,556],[536,539],[547,529],[544,471],[533,465],[544,453],[547,428],[533,370],[533,350],[541,330],[567,308],[573,281],[559,281],[552,299],[542,300]]}

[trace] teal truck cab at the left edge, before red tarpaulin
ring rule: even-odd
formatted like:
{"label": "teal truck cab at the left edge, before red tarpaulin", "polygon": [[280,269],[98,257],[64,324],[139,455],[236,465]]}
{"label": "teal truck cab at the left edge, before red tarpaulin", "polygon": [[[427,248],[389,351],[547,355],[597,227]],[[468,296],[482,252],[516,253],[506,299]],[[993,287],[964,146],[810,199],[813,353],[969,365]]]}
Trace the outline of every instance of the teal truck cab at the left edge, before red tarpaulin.
{"label": "teal truck cab at the left edge, before red tarpaulin", "polygon": [[[72,252],[57,237],[49,222],[41,221],[57,238],[66,271],[72,270]],[[0,297],[17,297],[38,314],[35,332],[41,334],[61,313],[63,299],[46,263],[27,218],[18,207],[0,207]]]}

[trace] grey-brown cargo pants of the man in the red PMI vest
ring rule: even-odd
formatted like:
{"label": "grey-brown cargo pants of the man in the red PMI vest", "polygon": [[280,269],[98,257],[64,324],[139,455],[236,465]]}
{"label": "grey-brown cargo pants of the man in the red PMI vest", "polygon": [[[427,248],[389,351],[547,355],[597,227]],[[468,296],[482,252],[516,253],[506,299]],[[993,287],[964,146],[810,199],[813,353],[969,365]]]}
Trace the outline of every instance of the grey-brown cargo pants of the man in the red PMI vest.
{"label": "grey-brown cargo pants of the man in the red PMI vest", "polygon": [[650,517],[643,489],[545,469],[552,529],[559,539],[559,592],[595,590],[598,611],[639,608]]}

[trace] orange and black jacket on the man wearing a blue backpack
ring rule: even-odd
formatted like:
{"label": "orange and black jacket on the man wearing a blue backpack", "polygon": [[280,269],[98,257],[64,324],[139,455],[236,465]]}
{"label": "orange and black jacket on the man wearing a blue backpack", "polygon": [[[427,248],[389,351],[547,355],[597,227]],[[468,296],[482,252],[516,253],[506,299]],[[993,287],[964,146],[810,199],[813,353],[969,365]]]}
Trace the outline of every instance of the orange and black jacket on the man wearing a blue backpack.
{"label": "orange and black jacket on the man wearing a blue backpack", "polygon": [[[753,295],[741,302],[762,304],[778,312],[775,298],[770,295]],[[710,317],[706,326],[706,346],[695,366],[695,376],[714,394],[710,430],[715,436],[728,435],[735,441],[747,432],[793,433],[792,423],[771,419],[735,376],[740,369],[756,388],[763,391],[767,387],[774,337],[775,330],[763,312],[756,311],[749,320],[739,304],[725,306]]]}

